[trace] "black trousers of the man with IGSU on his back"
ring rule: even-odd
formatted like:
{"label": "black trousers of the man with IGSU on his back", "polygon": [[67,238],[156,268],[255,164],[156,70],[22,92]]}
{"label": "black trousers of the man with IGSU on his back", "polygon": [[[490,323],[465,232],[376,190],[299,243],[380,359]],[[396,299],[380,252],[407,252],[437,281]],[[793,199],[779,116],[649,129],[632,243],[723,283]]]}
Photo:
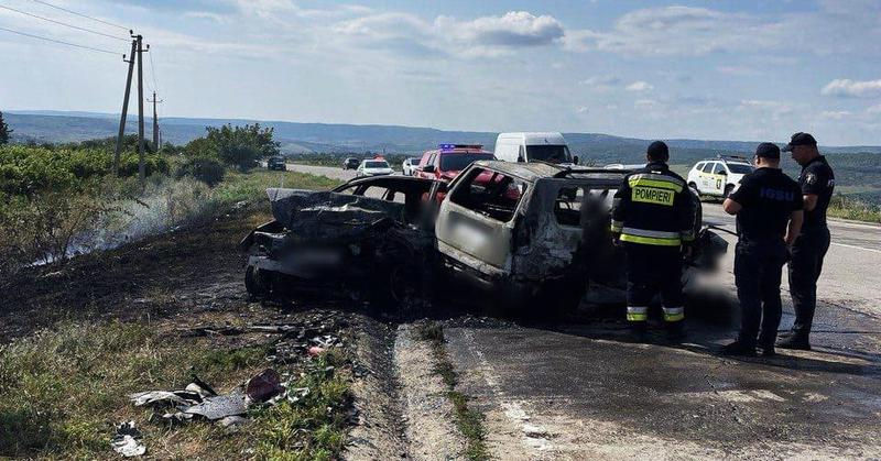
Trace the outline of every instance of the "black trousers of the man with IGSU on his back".
{"label": "black trousers of the man with IGSU on his back", "polygon": [[740,342],[755,345],[758,334],[759,344],[774,344],[783,315],[780,279],[787,256],[783,239],[737,242],[735,283],[741,310]]}

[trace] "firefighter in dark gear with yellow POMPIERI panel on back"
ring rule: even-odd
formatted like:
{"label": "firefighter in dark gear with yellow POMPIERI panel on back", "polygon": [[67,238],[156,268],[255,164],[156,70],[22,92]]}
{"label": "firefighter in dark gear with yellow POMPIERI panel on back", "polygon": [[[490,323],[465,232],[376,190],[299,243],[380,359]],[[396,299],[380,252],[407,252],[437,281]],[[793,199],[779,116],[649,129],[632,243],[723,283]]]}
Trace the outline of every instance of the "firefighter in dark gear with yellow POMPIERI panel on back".
{"label": "firefighter in dark gear with yellow POMPIERI panel on back", "polygon": [[681,339],[682,248],[690,248],[695,237],[695,202],[685,180],[667,166],[666,144],[651,143],[646,160],[624,177],[612,210],[612,239],[627,254],[627,319],[643,339],[649,304],[660,293],[670,337]]}

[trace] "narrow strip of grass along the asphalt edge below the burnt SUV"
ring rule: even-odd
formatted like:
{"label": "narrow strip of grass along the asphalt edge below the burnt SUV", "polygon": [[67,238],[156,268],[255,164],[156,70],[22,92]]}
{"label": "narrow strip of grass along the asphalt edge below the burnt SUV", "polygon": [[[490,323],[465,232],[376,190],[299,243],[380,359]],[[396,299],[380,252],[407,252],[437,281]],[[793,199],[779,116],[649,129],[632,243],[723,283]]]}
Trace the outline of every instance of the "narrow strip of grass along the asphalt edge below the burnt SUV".
{"label": "narrow strip of grass along the asphalt edge below the burnt SUV", "polygon": [[434,372],[440,376],[447,386],[446,396],[453,404],[454,419],[467,443],[465,455],[469,460],[489,460],[487,449],[487,432],[483,428],[483,415],[480,411],[468,407],[470,397],[456,391],[458,375],[453,363],[444,349],[444,329],[435,322],[426,322],[416,326],[415,337],[427,341],[432,345],[432,353],[435,359]]}

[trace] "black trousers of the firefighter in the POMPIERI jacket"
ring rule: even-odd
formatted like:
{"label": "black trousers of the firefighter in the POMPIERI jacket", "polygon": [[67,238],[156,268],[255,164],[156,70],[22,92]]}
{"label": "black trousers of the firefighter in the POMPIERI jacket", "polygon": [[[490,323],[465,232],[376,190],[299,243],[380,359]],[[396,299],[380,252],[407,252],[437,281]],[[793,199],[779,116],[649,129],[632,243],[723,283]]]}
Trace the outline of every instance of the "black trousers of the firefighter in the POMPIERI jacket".
{"label": "black trousers of the firefighter in the POMPIERI jacket", "polygon": [[683,320],[679,248],[626,243],[624,249],[628,320],[648,320],[649,304],[659,293],[663,301],[664,320]]}

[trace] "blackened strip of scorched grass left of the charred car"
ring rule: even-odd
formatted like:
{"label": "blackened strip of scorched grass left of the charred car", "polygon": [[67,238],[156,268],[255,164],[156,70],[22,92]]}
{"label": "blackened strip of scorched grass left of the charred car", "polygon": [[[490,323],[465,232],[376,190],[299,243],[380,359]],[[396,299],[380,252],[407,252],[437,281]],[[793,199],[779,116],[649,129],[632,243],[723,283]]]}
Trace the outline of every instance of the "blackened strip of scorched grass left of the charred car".
{"label": "blackened strip of scorched grass left of the charred car", "polygon": [[231,210],[207,224],[0,282],[0,343],[61,320],[157,320],[243,300],[243,289],[221,285],[241,279],[246,255],[237,244],[269,218],[268,205]]}

